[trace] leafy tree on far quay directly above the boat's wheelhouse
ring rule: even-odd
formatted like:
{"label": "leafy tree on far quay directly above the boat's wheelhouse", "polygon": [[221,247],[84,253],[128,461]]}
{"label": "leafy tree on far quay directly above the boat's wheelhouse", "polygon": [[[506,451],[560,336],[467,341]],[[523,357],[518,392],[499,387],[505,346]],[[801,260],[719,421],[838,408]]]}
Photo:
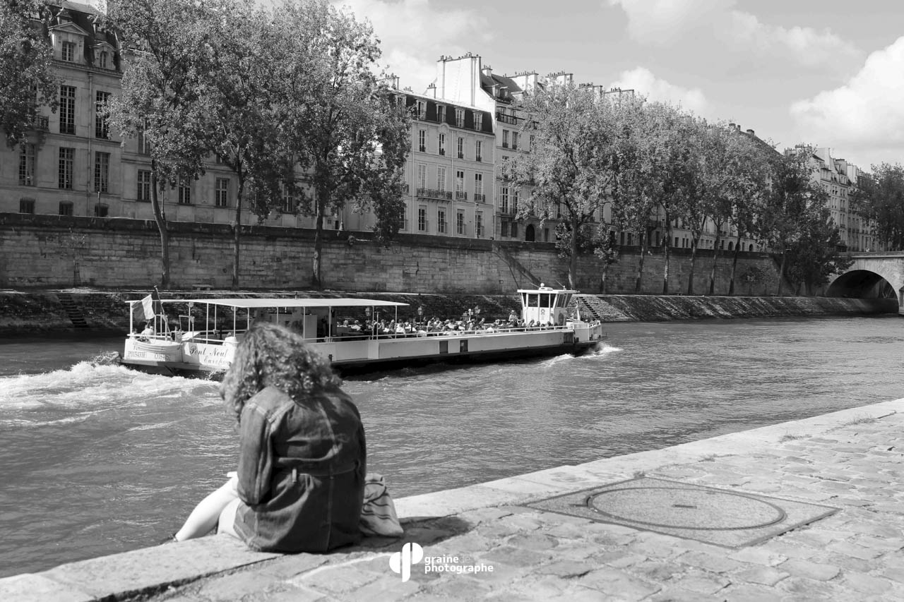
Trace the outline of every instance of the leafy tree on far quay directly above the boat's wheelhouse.
{"label": "leafy tree on far quay directly above the boat's wheelhouse", "polygon": [[[531,185],[518,217],[549,219],[562,208],[561,233],[570,240],[569,286],[577,286],[579,233],[601,213],[616,182],[633,99],[608,98],[589,87],[553,83],[525,92],[525,129],[534,137],[529,153],[503,165],[506,180]],[[591,247],[592,248],[592,247]]]}

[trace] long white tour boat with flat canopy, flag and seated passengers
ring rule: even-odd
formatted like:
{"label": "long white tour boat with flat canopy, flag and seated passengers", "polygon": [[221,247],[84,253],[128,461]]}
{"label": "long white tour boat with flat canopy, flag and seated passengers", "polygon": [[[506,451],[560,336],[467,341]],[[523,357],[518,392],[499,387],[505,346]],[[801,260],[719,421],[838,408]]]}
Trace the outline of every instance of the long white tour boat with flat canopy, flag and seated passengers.
{"label": "long white tour boat with flat canopy, flag and seated passengers", "polygon": [[[588,322],[579,311],[571,319],[567,307],[577,291],[551,287],[518,290],[521,322],[496,322],[472,330],[445,329],[410,334],[376,332],[368,323],[381,316],[398,322],[394,301],[361,298],[147,298],[150,326],[139,333],[130,320],[119,362],[145,372],[192,375],[229,368],[236,345],[258,321],[285,325],[347,376],[433,362],[490,362],[513,358],[579,354],[603,338],[598,320]],[[129,301],[132,315],[142,301]],[[136,305],[138,304],[138,305]],[[150,307],[153,306],[153,309]],[[167,308],[169,311],[167,312]],[[149,311],[150,310],[150,311]],[[185,313],[180,315],[179,312]],[[153,314],[153,318],[151,315]],[[450,323],[457,324],[457,323]]]}

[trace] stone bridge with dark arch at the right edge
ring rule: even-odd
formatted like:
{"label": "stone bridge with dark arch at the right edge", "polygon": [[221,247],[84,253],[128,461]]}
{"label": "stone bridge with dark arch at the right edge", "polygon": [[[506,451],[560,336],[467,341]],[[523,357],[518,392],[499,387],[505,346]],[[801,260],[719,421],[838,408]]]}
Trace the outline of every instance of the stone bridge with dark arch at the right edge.
{"label": "stone bridge with dark arch at the right edge", "polygon": [[825,296],[898,299],[904,315],[904,251],[852,253],[850,268],[829,281]]}

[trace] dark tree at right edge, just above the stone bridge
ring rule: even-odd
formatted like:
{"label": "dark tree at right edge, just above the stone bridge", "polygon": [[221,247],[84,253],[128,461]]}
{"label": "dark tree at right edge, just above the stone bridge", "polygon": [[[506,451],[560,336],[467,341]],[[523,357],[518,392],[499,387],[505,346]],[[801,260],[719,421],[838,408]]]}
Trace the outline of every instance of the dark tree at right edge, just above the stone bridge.
{"label": "dark tree at right edge, just above the stone bridge", "polygon": [[851,204],[881,247],[904,249],[904,167],[872,165],[871,174],[858,177]]}

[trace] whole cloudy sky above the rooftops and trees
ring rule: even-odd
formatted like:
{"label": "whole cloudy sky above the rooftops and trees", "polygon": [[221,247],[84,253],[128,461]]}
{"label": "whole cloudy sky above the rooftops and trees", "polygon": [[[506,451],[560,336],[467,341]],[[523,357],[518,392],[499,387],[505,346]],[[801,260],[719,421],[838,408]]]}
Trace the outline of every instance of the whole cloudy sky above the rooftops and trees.
{"label": "whole cloudy sky above the rooftops and trees", "polygon": [[[423,92],[441,55],[635,89],[779,150],[904,163],[904,3],[895,0],[331,0],[369,20],[381,65]],[[259,0],[272,4],[273,0]]]}

